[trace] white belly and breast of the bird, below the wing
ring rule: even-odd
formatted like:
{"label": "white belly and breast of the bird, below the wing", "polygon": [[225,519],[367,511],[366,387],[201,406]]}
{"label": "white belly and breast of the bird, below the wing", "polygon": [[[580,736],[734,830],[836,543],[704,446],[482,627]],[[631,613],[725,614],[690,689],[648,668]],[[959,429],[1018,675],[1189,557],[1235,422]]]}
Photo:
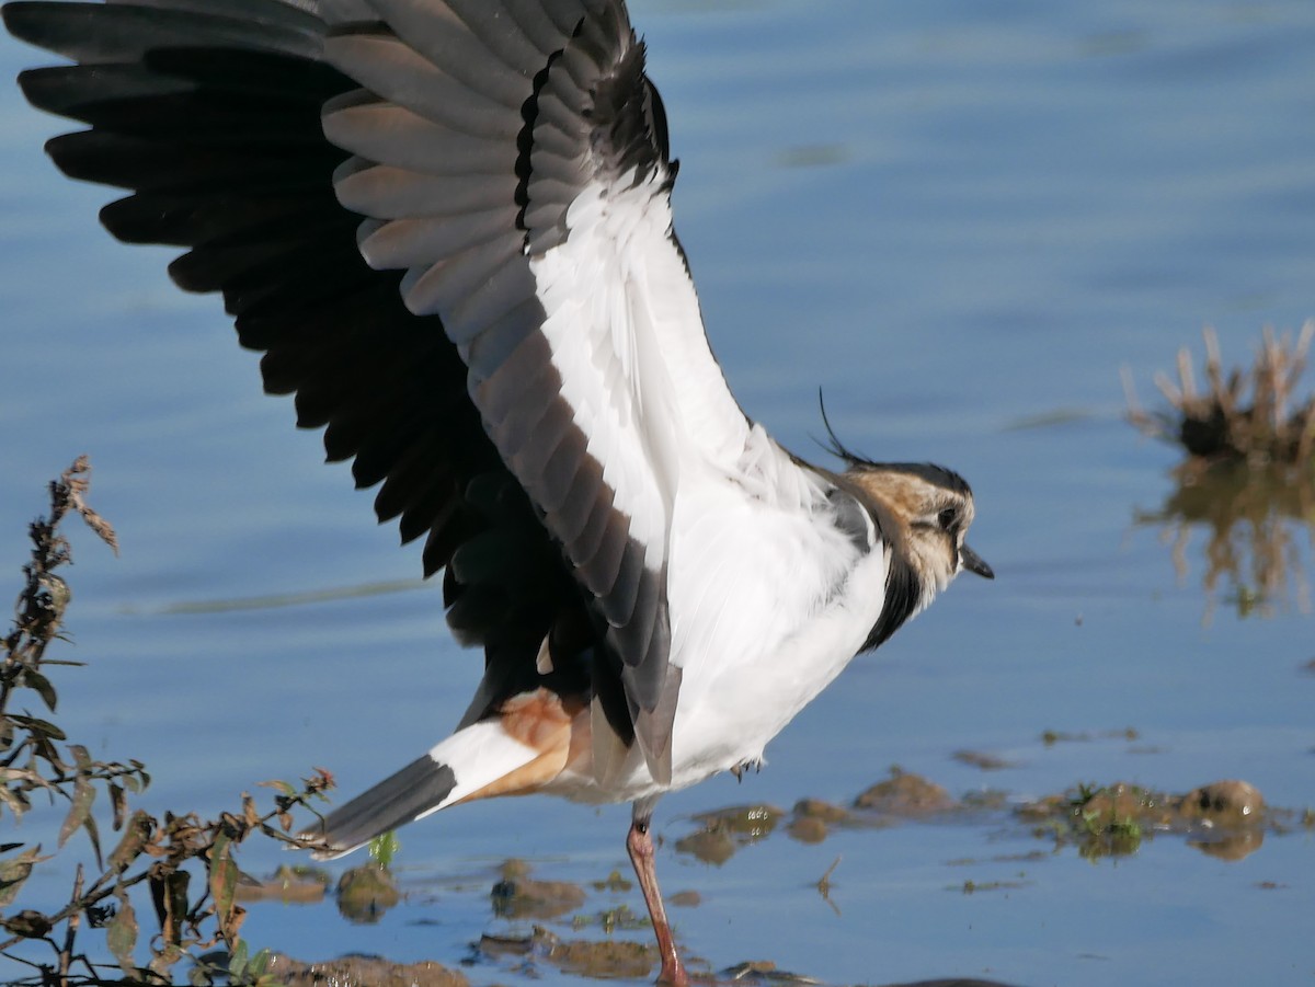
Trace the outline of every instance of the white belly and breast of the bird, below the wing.
{"label": "white belly and breast of the bird, below the wing", "polygon": [[634,748],[605,787],[581,765],[550,787],[556,794],[635,800],[760,760],[877,622],[886,578],[880,543],[860,555],[815,516],[764,507],[738,490],[682,503],[675,527],[671,661],[682,681],[671,785],[656,783]]}

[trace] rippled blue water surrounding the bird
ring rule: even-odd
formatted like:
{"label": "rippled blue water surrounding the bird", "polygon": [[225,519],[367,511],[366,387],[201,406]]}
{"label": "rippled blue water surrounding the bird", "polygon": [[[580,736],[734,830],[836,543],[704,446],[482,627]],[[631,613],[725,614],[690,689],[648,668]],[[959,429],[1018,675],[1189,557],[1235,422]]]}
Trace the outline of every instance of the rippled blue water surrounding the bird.
{"label": "rippled blue water surrounding the bird", "polygon": [[[1315,7],[646,0],[633,17],[682,160],[679,231],[744,407],[810,455],[821,385],[848,444],[956,468],[998,574],[859,660],[760,775],[661,803],[664,886],[702,896],[676,913],[688,949],[832,983],[1308,982],[1308,832],[1240,862],[1169,836],[1116,863],[997,861],[1048,848],[999,819],[817,846],[778,835],[722,867],[671,844],[690,814],[843,802],[892,764],[1014,800],[1241,777],[1274,806],[1315,802],[1308,530],[1287,524],[1287,584],[1265,612],[1241,615],[1227,577],[1206,589],[1199,527],[1177,572],[1174,532],[1135,518],[1173,494],[1178,453],[1122,421],[1119,384],[1130,368],[1155,406],[1152,375],[1180,346],[1199,355],[1203,325],[1244,363],[1264,325],[1315,315]],[[41,60],[0,41],[0,76]],[[41,155],[59,130],[0,87],[0,565],[16,587],[24,524],[80,452],[122,543],[114,559],[75,536],[74,653],[91,664],[59,679],[60,723],[147,761],[156,810],[220,811],[316,764],[358,790],[448,729],[480,662],[446,636],[437,587],[176,612],[410,580],[418,549],[372,526],[291,401],[259,393],[214,300],[174,290],[166,251],[97,227],[107,192]],[[1124,727],[1139,740],[1039,739]],[[1016,766],[982,774],[951,760],[964,748]],[[597,879],[623,866],[625,825],[622,808],[550,800],[463,808],[404,831],[414,894],[379,927],[262,906],[245,934],[306,958],[454,963],[506,928],[485,898],[498,860]],[[252,870],[279,862],[260,853]],[[813,890],[836,856],[839,913]],[[965,879],[1018,886],[953,890]]]}

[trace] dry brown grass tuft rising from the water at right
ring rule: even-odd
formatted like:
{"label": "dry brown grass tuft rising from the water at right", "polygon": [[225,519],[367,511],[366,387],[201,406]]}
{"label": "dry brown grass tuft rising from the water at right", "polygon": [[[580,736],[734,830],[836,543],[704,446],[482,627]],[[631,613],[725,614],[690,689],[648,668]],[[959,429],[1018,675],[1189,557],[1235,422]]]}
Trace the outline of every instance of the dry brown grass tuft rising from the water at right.
{"label": "dry brown grass tuft rising from the water at right", "polygon": [[1276,336],[1266,327],[1251,372],[1233,369],[1227,377],[1214,330],[1207,327],[1203,335],[1208,386],[1198,389],[1191,354],[1184,347],[1178,351],[1178,382],[1165,373],[1155,379],[1170,410],[1148,413],[1124,369],[1128,421],[1145,435],[1181,444],[1202,464],[1310,464],[1315,448],[1315,397],[1297,406],[1293,396],[1315,339],[1315,319],[1302,326],[1295,342],[1290,334]]}

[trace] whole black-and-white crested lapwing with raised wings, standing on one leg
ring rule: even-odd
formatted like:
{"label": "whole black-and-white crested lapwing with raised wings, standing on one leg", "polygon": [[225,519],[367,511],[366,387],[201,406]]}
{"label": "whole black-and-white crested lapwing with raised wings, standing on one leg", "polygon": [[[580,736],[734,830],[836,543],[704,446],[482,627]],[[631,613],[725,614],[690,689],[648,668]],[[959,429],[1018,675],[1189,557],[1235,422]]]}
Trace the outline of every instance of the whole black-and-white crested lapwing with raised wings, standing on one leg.
{"label": "whole black-and-white crested lapwing with raised wings, standing on one leg", "polygon": [[[623,0],[16,0],[24,71],[85,129],[46,150],[126,196],[129,243],[220,292],[264,389],[423,536],[484,652],[455,731],[323,817],[320,856],[476,799],[631,803],[659,980],[689,974],[650,832],[761,764],[960,573],[955,472],[740,407],[672,225],[677,160]],[[826,418],[823,409],[823,419]]]}

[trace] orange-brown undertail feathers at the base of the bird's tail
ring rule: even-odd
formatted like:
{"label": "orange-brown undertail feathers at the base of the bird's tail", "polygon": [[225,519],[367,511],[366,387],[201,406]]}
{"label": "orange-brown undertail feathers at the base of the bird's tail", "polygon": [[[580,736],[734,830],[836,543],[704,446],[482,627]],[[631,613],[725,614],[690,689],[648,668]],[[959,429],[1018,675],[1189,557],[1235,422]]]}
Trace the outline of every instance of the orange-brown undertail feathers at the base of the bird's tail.
{"label": "orange-brown undertail feathers at the base of the bird's tail", "polygon": [[562,770],[590,750],[589,706],[575,698],[563,698],[547,689],[514,695],[498,712],[508,736],[539,752],[527,765],[504,774],[462,802],[492,799],[498,795],[533,795]]}

